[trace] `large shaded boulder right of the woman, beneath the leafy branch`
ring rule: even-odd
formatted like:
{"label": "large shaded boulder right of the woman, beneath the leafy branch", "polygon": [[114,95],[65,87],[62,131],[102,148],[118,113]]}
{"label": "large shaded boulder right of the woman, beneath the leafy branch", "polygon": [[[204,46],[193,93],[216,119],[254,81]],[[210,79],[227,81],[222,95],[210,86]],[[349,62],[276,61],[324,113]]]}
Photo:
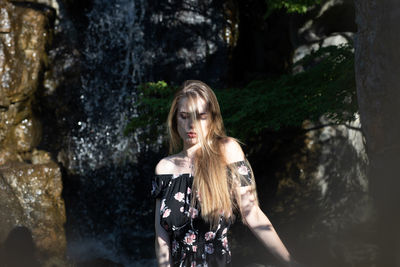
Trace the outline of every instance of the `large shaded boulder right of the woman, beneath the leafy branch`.
{"label": "large shaded boulder right of the woman, beneath the leafy branch", "polygon": [[303,145],[276,172],[272,216],[285,218],[278,225],[296,239],[292,244],[305,262],[370,266],[378,248],[369,234],[374,210],[359,116],[342,125],[322,117],[303,129]]}

